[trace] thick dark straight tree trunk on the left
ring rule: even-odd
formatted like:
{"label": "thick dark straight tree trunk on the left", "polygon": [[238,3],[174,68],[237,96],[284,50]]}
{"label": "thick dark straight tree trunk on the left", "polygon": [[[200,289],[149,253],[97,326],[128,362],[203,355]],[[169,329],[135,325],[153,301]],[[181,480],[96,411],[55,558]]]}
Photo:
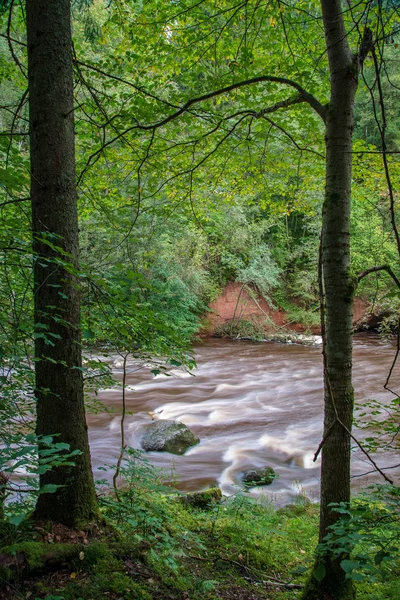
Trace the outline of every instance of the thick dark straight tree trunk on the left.
{"label": "thick dark straight tree trunk on the left", "polygon": [[83,402],[69,0],[27,0],[37,433],[79,449],[75,467],[55,468],[41,485],[36,518],[73,525],[91,518],[96,498]]}

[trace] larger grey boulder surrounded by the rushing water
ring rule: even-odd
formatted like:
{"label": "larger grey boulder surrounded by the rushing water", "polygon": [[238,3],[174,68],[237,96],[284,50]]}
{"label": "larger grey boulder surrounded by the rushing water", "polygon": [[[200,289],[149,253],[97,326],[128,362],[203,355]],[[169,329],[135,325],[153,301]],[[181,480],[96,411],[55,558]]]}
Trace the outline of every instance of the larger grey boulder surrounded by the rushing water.
{"label": "larger grey boulder surrounded by the rushing water", "polygon": [[178,421],[153,421],[144,426],[141,445],[147,452],[170,452],[184,454],[190,446],[200,442],[186,425]]}

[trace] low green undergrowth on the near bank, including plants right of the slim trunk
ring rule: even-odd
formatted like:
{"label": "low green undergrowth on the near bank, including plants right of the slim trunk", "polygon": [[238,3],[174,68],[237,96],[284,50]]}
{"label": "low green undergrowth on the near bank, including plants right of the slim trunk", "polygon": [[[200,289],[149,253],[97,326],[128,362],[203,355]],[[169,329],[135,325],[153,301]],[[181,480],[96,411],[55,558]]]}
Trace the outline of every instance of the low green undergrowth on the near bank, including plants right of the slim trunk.
{"label": "low green undergrowth on the near bank, including plants right of the slim trunk", "polygon": [[[11,547],[2,548],[2,555],[23,553],[30,566],[25,574],[19,573],[18,580],[10,572],[2,572],[2,576],[11,577],[20,593],[30,592],[46,600],[100,600],[113,594],[124,600],[171,594],[186,594],[193,600],[239,593],[257,594],[260,599],[298,597],[301,590],[275,584],[304,582],[313,561],[317,506],[301,499],[276,511],[268,497],[257,502],[239,493],[211,510],[202,510],[181,503],[180,494],[163,484],[166,474],[152,467],[141,453],[130,450],[125,469],[127,485],[120,490],[120,501],[104,495],[104,488],[102,491],[103,517],[108,520],[107,527],[101,524],[103,537],[90,539],[87,545],[49,544],[32,541],[37,532],[24,530]],[[366,584],[357,580],[361,600],[397,598],[396,557],[393,554],[388,560],[378,554],[378,564],[374,563],[381,546],[397,543],[394,534],[398,534],[397,520],[390,520],[398,513],[398,493],[389,491],[388,495],[388,490],[382,489],[381,494],[356,500],[350,510],[344,508],[345,531],[338,529],[336,541],[327,542],[337,547],[341,537],[343,543],[356,541],[354,562],[361,562],[356,558],[359,555],[372,560],[373,572],[368,565],[364,567],[365,560],[362,569],[352,571],[367,577]],[[51,576],[43,563],[49,555]],[[377,573],[382,570],[385,582]]]}

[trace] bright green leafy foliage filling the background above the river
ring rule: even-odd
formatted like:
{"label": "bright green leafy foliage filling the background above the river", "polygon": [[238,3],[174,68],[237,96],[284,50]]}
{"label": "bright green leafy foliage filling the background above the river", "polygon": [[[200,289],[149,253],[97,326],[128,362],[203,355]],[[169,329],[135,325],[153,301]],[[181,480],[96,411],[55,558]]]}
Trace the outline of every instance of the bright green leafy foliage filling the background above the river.
{"label": "bright green leafy foliage filling the background above the river", "polygon": [[[284,73],[326,104],[329,77],[318,5],[268,3],[260,9],[255,1],[216,6],[207,0],[178,5],[76,0],[73,13],[85,265],[77,275],[84,342],[130,352],[158,369],[193,364],[187,350],[200,318],[219,286],[232,278],[256,285],[266,298],[289,307],[294,319],[312,325],[317,318],[322,124],[277,78]],[[368,3],[371,22],[382,6]],[[344,15],[354,47],[358,24],[366,18],[364,8],[357,4],[357,13]],[[383,8],[389,11],[393,5]],[[33,417],[33,339],[44,337],[49,346],[51,340],[46,331],[38,331],[40,323],[34,327],[32,314],[31,273],[38,257],[31,253],[30,214],[24,204],[29,194],[24,15],[18,6],[10,10],[13,37],[2,13],[7,34],[0,40],[6,57],[0,59],[5,98],[0,109],[5,133],[0,138],[5,164],[0,172],[0,408],[6,425],[3,441],[13,448],[15,436],[26,443],[21,430],[31,426]],[[393,18],[388,15],[389,21]],[[396,46],[395,40],[384,36],[384,41],[380,51],[385,50],[384,87],[392,117],[386,138],[388,148],[396,151],[398,102],[391,84],[397,82]],[[261,81],[266,73],[273,80]],[[260,81],[240,84],[250,78]],[[380,98],[372,65],[366,65],[364,80],[356,115],[361,139],[354,144],[355,275],[398,260],[387,181],[375,154],[382,136],[375,127]],[[207,96],[227,85],[233,87],[224,96]],[[186,104],[201,94],[204,100]],[[363,107],[368,94],[375,110]],[[190,110],[172,118],[182,106]],[[397,185],[395,155],[388,164]],[[360,291],[375,300],[379,292],[392,307],[398,302],[393,284],[378,275],[364,280]],[[262,335],[257,324],[236,319],[228,329],[235,336]],[[101,365],[88,367],[94,369],[86,371],[88,381],[93,374],[92,381],[100,385]],[[394,425],[386,427],[390,433]],[[367,443],[373,449],[378,442]],[[134,501],[142,505],[135,493]],[[133,499],[128,500],[132,506]],[[136,527],[143,536],[160,535],[168,546],[161,518],[165,506],[151,519],[149,510],[146,506],[142,521],[134,518]],[[118,511],[114,517],[118,521]],[[119,576],[115,588],[117,584],[122,585]]]}

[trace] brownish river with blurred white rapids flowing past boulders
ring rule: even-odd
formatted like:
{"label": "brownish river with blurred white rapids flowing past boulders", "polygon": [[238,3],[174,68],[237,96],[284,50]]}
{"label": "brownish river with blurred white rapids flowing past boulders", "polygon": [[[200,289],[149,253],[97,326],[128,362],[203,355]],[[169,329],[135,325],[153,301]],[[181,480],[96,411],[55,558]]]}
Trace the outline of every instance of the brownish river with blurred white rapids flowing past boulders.
{"label": "brownish river with blurred white rapids flowing past boulders", "polygon": [[[174,370],[171,377],[153,377],[149,370],[128,365],[126,443],[140,447],[143,424],[152,418],[182,421],[201,442],[183,456],[150,452],[151,462],[168,469],[182,490],[218,484],[224,494],[237,488],[240,473],[269,465],[279,474],[272,485],[252,490],[276,504],[291,502],[299,493],[318,498],[320,461],[313,461],[321,441],[323,421],[322,357],[320,347],[294,344],[208,339],[195,348],[194,375]],[[383,389],[394,357],[392,345],[371,334],[354,340],[356,399],[389,402]],[[114,370],[122,379],[122,361]],[[394,370],[392,385],[400,390]],[[89,415],[95,475],[103,464],[115,464],[120,449],[121,389],[102,390],[100,400],[118,412]],[[355,432],[359,439],[365,435]],[[380,466],[398,461],[394,451],[374,455]],[[356,451],[355,485],[375,481],[366,457]],[[396,470],[389,471],[396,476]],[[400,471],[397,469],[397,475]]]}

